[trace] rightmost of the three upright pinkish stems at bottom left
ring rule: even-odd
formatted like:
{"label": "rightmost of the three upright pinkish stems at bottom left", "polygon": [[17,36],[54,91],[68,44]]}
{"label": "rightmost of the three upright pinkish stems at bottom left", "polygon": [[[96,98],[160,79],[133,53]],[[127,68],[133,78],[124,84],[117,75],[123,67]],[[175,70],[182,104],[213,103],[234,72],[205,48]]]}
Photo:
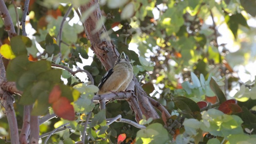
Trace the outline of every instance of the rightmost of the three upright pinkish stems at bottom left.
{"label": "rightmost of the three upright pinkish stems at bottom left", "polygon": [[39,140],[39,118],[38,116],[30,115],[30,144],[38,144]]}

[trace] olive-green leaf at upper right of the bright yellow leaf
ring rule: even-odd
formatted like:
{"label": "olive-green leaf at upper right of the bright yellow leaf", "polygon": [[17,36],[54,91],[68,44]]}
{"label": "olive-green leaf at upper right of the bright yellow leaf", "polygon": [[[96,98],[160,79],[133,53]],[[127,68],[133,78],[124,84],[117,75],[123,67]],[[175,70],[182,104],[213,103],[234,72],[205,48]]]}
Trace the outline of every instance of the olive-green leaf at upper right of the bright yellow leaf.
{"label": "olive-green leaf at upper right of the bright yellow leaf", "polygon": [[[27,54],[26,45],[23,42],[24,36],[14,36],[11,38],[11,48],[15,56],[19,56],[22,54]],[[25,38],[26,39],[26,38]],[[26,39],[27,40],[27,39]]]}

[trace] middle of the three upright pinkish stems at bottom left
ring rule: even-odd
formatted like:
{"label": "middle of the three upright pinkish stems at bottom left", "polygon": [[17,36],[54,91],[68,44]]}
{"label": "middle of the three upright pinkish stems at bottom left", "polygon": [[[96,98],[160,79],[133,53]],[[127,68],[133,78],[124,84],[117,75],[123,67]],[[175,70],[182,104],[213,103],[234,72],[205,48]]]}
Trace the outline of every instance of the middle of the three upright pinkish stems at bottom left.
{"label": "middle of the three upright pinkish stems at bottom left", "polygon": [[28,144],[28,135],[30,130],[30,111],[32,110],[32,105],[24,106],[23,113],[23,124],[20,132],[20,144]]}

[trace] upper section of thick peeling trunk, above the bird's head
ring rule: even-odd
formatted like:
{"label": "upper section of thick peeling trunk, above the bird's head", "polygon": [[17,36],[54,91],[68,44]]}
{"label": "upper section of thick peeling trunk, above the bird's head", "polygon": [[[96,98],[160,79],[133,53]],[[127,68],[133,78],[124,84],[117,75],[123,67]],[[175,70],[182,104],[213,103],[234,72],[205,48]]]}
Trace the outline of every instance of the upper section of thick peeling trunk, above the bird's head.
{"label": "upper section of thick peeling trunk, above the bird's head", "polygon": [[[102,28],[98,32],[93,31],[96,29],[98,21],[101,19],[101,11],[98,0],[90,0],[88,4],[81,6],[80,10],[82,14],[86,12],[90,7],[95,6],[95,10],[90,14],[87,20],[83,22],[87,38],[91,42],[91,48],[96,54],[97,58],[102,62],[106,70],[109,70],[114,66],[119,53],[115,49],[114,45],[110,41],[108,35],[106,38],[102,38],[102,34],[106,34],[107,30],[102,24]],[[104,50],[105,48],[105,50]]]}

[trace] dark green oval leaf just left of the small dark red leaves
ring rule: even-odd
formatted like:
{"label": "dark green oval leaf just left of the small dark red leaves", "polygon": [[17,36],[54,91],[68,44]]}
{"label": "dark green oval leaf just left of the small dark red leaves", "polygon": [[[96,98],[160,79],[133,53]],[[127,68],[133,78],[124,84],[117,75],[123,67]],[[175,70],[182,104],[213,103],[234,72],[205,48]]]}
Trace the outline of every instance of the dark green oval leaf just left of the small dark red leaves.
{"label": "dark green oval leaf just left of the small dark red leaves", "polygon": [[174,103],[180,110],[188,110],[191,112],[200,112],[200,108],[190,98],[186,98],[184,96],[174,97]]}

